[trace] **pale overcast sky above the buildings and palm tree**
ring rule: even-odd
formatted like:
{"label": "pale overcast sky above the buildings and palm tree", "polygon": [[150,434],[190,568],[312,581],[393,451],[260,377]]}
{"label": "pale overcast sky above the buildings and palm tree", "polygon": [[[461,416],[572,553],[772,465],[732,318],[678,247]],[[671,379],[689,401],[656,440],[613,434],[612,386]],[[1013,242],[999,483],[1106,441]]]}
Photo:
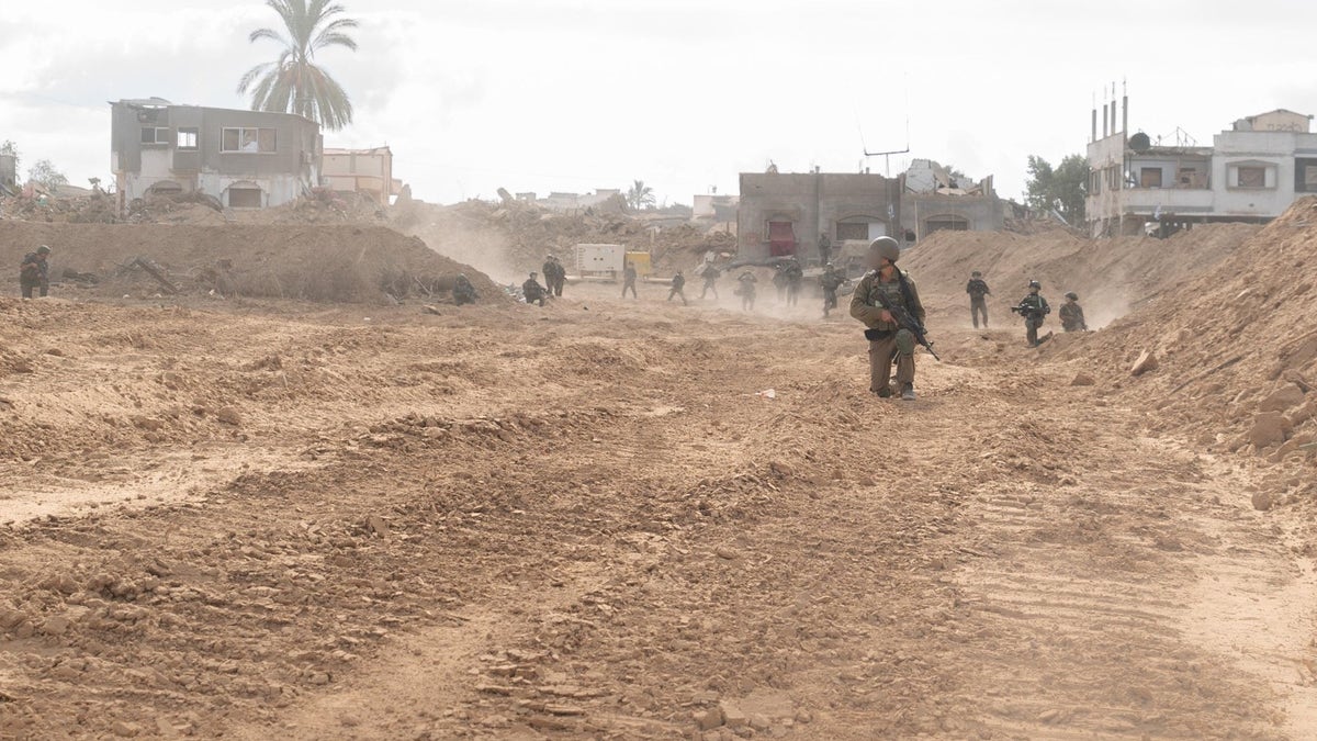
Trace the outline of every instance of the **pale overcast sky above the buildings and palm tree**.
{"label": "pale overcast sky above the buildings and palm tree", "polygon": [[[1129,80],[1131,129],[1200,144],[1234,119],[1317,112],[1310,0],[341,0],[356,54],[319,62],[417,198],[651,183],[736,193],[738,173],[857,171],[906,148],[1017,196],[1029,154],[1083,152],[1093,95]],[[109,174],[108,100],[245,107],[273,58],[261,0],[4,0],[0,140],[22,169]],[[884,158],[867,162],[874,173]]]}

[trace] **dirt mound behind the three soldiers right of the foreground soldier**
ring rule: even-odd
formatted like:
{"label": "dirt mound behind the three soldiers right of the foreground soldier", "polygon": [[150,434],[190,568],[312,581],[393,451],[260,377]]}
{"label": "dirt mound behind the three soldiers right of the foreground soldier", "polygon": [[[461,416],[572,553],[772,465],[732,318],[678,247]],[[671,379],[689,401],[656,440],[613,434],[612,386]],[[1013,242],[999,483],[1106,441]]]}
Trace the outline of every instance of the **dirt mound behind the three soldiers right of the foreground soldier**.
{"label": "dirt mound behind the three soldiers right of the foreground soldier", "polygon": [[1258,232],[1250,224],[1212,224],[1171,239],[1088,240],[1055,228],[1040,233],[938,232],[910,251],[905,268],[932,306],[965,303],[969,273],[982,270],[996,291],[998,315],[1025,293],[1030,278],[1059,303],[1077,291],[1089,324],[1101,327],[1159,291],[1216,265]]}

